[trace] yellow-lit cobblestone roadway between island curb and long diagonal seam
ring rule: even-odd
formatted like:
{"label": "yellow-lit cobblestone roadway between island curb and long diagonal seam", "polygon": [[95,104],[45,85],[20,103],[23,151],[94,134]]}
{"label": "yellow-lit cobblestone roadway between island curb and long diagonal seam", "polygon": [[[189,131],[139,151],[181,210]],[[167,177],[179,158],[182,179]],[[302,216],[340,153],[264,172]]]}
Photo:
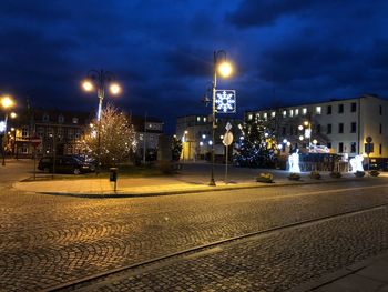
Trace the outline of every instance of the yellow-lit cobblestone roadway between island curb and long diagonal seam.
{"label": "yellow-lit cobblestone roadway between island curb and long diagonal seam", "polygon": [[[6,188],[0,193],[0,290],[49,289],[222,239],[387,203],[387,182],[109,200]],[[386,241],[384,234],[374,239]]]}

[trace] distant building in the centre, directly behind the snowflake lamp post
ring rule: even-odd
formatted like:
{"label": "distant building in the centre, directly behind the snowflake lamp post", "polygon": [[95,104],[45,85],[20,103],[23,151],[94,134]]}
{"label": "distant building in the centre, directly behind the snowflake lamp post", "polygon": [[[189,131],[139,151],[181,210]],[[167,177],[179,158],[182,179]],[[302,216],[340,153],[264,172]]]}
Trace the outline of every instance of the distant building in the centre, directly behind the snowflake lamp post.
{"label": "distant building in the centre, directly behind the snowflake lamp post", "polygon": [[[226,132],[226,123],[232,124],[231,132],[234,134],[234,139],[239,139],[241,130],[238,124],[241,120],[217,118],[216,119],[216,132],[215,132],[215,154],[224,154],[224,145],[222,143],[223,134]],[[176,138],[180,139],[182,144],[182,160],[196,160],[205,159],[212,151],[212,120],[204,114],[191,114],[178,117],[176,120]]]}

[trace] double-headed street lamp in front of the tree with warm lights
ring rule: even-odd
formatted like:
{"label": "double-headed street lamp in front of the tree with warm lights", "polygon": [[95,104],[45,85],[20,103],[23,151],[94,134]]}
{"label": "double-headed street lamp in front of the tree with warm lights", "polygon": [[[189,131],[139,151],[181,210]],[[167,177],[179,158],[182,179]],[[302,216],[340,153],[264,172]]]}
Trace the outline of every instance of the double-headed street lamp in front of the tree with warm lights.
{"label": "double-headed street lamp in front of the tree with warm lights", "polygon": [[113,73],[104,70],[90,70],[88,72],[86,79],[83,81],[82,87],[85,91],[93,91],[96,89],[99,98],[99,111],[98,111],[98,165],[95,174],[99,174],[100,163],[101,163],[101,112],[102,112],[102,102],[105,97],[105,83],[109,82],[110,92],[113,95],[116,95],[121,92],[120,85],[114,82],[115,77]]}

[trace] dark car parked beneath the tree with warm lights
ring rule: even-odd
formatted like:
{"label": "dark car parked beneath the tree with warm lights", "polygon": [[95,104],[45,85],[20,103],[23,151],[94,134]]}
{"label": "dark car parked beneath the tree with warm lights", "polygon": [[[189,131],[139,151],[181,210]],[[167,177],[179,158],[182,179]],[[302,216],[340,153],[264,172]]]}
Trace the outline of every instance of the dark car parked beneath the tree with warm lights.
{"label": "dark car parked beneath the tree with warm lights", "polygon": [[[53,172],[53,157],[44,157],[39,161],[38,169],[47,173]],[[93,172],[95,167],[93,163],[89,163],[78,159],[76,157],[65,155],[55,158],[55,173],[86,173]]]}

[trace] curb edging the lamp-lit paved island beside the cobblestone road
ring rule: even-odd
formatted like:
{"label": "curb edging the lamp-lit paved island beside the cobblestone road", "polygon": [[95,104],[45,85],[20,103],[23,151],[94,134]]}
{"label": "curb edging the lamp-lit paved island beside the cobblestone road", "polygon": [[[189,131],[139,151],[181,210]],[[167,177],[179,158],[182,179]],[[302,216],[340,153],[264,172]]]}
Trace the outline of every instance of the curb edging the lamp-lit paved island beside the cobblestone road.
{"label": "curb edging the lamp-lit paved island beside the cobblestone road", "polygon": [[[276,188],[276,187],[289,187],[289,185],[308,185],[308,184],[324,184],[324,183],[336,183],[336,182],[349,182],[359,181],[360,179],[353,178],[346,180],[315,180],[312,182],[286,182],[286,183],[262,183],[262,184],[249,184],[241,187],[210,187],[208,189],[192,189],[192,190],[176,190],[176,191],[160,191],[160,192],[144,192],[144,193],[130,193],[130,192],[112,192],[112,193],[71,193],[71,192],[35,192],[41,194],[51,195],[63,195],[63,197],[75,197],[75,198],[89,198],[89,199],[119,199],[119,198],[143,198],[143,197],[162,197],[162,195],[175,195],[175,194],[190,194],[190,193],[205,193],[205,192],[221,192],[221,191],[233,191],[233,190],[247,190],[247,189],[259,189],[259,188]],[[257,182],[261,183],[261,182]]]}

